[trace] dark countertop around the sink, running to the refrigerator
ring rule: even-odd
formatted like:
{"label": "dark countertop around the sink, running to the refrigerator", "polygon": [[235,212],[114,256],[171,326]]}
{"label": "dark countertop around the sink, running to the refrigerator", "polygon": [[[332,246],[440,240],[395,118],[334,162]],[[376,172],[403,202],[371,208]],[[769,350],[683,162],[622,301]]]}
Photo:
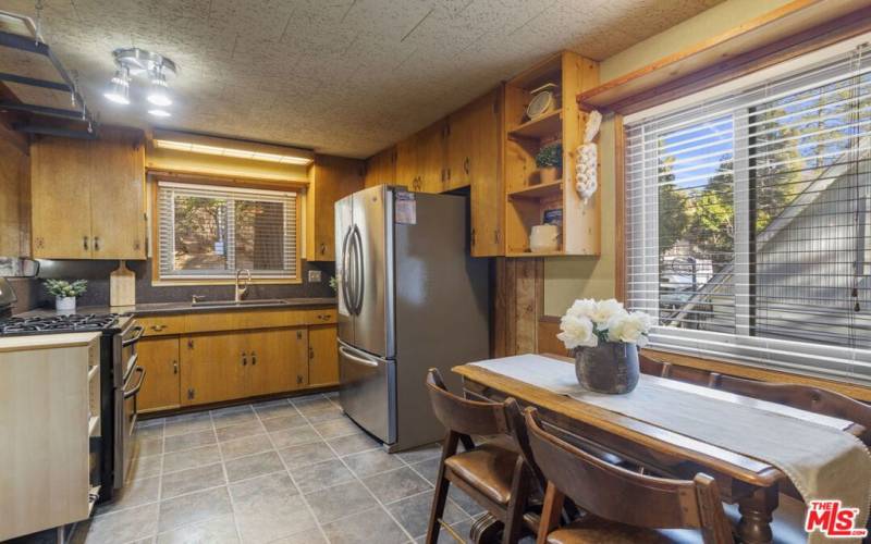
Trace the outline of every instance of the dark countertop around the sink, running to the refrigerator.
{"label": "dark countertop around the sink, running to the refrigerator", "polygon": [[[257,304],[256,300],[244,305],[235,305],[230,300],[222,306],[193,306],[191,302],[152,302],[134,306],[83,306],[77,307],[75,313],[121,313],[123,316],[165,316],[171,313],[203,313],[214,311],[237,311],[237,310],[261,310],[267,308],[293,309],[293,308],[318,308],[324,306],[335,306],[335,298],[284,298],[280,304],[265,300]],[[38,316],[56,316],[58,312],[52,308],[39,308],[15,314],[16,318],[33,318]]]}

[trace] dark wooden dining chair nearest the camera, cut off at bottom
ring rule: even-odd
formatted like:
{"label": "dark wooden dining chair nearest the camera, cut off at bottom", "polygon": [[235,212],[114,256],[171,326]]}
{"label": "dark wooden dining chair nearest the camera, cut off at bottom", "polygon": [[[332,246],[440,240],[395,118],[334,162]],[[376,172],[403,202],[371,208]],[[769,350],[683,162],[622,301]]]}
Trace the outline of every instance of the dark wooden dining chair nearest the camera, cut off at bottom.
{"label": "dark wooden dining chair nearest the camera, cut off at bottom", "polygon": [[[535,408],[526,426],[537,465],[548,479],[538,544],[732,544],[732,529],[713,478],[652,478],[610,465],[544,431]],[[557,527],[572,498],[587,516]]]}

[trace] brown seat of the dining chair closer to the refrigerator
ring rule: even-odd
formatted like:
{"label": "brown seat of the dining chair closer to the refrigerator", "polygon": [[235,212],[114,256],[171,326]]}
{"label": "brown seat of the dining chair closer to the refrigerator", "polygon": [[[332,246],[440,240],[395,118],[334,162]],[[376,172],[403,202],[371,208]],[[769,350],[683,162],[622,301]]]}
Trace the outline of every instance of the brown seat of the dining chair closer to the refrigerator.
{"label": "brown seat of the dining chair closer to the refrigerator", "polygon": [[492,502],[507,505],[518,454],[510,438],[500,436],[471,452],[456,454],[444,465],[454,475],[475,487]]}

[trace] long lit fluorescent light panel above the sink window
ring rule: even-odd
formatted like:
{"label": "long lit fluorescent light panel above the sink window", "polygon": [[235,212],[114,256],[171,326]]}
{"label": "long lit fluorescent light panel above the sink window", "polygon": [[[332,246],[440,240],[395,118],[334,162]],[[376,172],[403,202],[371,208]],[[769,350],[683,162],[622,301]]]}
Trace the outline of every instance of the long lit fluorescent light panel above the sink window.
{"label": "long lit fluorescent light panel above the sink window", "polygon": [[[170,135],[172,139],[169,139]],[[156,148],[171,149],[174,151],[188,151],[192,153],[278,162],[281,164],[298,164],[303,166],[311,164],[312,162],[311,151],[305,149],[249,141],[238,141],[238,147],[214,145],[223,141],[228,140],[198,134],[188,135],[186,133],[175,132],[156,134],[152,140]]]}

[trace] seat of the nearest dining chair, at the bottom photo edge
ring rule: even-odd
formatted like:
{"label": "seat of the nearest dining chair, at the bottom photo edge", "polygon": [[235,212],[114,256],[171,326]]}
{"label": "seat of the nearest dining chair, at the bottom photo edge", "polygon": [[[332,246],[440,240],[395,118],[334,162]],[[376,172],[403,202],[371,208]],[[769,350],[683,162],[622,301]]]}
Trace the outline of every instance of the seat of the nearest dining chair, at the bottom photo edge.
{"label": "seat of the nearest dining chair, at the bottom photo edge", "polygon": [[608,521],[594,516],[550,533],[548,544],[701,544],[700,531],[691,529],[645,529]]}

